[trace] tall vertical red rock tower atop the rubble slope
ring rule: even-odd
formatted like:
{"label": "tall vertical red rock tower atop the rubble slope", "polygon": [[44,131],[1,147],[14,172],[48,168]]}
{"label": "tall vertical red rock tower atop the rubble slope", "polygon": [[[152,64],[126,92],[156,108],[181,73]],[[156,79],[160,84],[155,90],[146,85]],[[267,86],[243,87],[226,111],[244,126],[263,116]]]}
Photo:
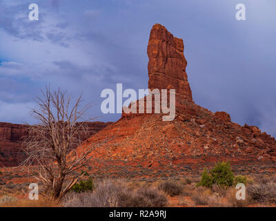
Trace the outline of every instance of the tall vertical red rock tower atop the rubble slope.
{"label": "tall vertical red rock tower atop the rubble slope", "polygon": [[150,31],[148,41],[148,88],[175,89],[184,98],[193,100],[186,74],[183,40],[160,24]]}

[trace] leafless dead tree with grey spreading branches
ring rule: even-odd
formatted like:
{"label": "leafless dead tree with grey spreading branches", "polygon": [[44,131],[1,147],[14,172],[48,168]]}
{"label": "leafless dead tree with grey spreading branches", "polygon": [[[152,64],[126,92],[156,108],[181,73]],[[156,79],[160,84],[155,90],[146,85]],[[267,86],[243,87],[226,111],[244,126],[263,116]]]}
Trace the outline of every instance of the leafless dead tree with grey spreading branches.
{"label": "leafless dead tree with grey spreading branches", "polygon": [[59,201],[80,178],[72,178],[65,186],[66,177],[84,166],[90,153],[110,139],[106,137],[101,142],[83,145],[81,151],[77,151],[75,147],[82,142],[81,134],[88,131],[83,117],[90,104],[81,107],[81,96],[71,104],[72,99],[66,91],[59,89],[51,93],[50,86],[42,93],[42,97],[34,99],[38,108],[33,108],[32,114],[38,123],[30,126],[23,142],[27,156],[23,165],[35,165],[32,168],[38,173],[37,180]]}

